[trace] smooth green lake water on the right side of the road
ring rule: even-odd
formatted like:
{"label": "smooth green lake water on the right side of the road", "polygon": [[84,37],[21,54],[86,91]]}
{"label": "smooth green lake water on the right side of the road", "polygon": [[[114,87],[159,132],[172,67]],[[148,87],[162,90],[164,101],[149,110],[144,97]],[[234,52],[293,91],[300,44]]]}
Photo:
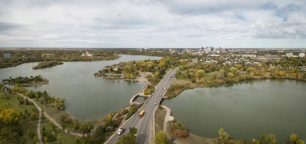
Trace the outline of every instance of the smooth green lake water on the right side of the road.
{"label": "smooth green lake water on the right side of the road", "polygon": [[235,138],[273,133],[284,142],[296,133],[306,139],[306,82],[256,80],[195,88],[162,104],[199,136],[218,136],[223,127]]}

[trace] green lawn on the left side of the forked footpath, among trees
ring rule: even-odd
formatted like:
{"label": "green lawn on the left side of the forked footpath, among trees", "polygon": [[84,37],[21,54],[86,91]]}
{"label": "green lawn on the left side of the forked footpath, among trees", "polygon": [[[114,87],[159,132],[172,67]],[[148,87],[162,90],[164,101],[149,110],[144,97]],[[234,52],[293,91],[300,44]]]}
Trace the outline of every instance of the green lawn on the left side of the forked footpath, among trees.
{"label": "green lawn on the left side of the forked footpath, among trees", "polygon": [[[24,114],[25,109],[27,109],[28,113],[33,112],[33,108],[36,108],[34,105],[20,105],[19,107],[19,99],[17,99],[18,94],[11,93],[9,94],[8,91],[0,90],[0,98],[5,97],[5,95],[10,95],[11,99],[0,99],[0,105],[7,105],[9,108],[14,109],[15,111],[19,111],[22,114]],[[19,96],[20,99],[22,99],[21,96]],[[10,105],[9,105],[10,104]],[[39,112],[36,112],[37,115],[39,115]],[[36,143],[38,142],[37,137],[37,120],[33,122],[31,117],[27,117],[26,119],[21,118],[20,119],[20,133],[21,137],[27,137],[27,131],[28,129],[35,132],[35,136],[33,140],[28,140],[28,143]]]}

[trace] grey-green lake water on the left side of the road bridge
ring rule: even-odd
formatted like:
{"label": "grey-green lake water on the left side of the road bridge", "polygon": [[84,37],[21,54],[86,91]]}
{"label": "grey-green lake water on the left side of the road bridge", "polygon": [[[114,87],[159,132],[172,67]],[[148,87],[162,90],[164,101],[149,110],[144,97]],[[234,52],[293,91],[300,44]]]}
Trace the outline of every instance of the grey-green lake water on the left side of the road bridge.
{"label": "grey-green lake water on the left side of the road bridge", "polygon": [[46,90],[51,96],[64,98],[67,112],[81,121],[95,121],[129,105],[131,97],[146,83],[105,81],[102,77],[94,77],[94,73],[107,65],[119,62],[160,58],[122,55],[117,60],[64,62],[62,65],[43,69],[32,69],[38,62],[24,63],[15,67],[0,68],[0,79],[40,74],[49,79],[49,83],[42,86],[27,86],[27,89]]}

